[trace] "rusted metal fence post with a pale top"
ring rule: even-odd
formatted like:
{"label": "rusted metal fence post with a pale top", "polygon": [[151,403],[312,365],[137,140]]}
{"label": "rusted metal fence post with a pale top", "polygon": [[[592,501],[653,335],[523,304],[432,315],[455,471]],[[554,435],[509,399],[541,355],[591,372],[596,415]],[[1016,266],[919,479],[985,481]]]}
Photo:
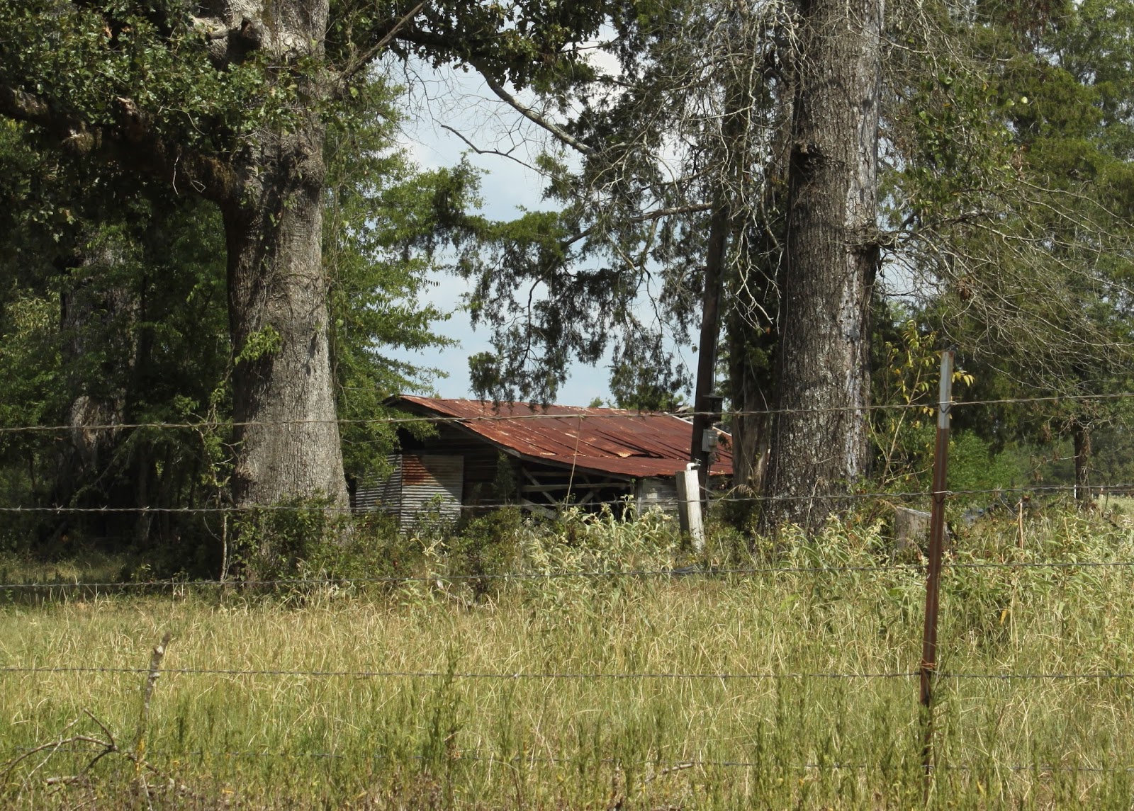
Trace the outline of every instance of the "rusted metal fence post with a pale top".
{"label": "rusted metal fence post with a pale top", "polygon": [[929,519],[929,566],[925,573],[925,630],[922,635],[921,706],[924,739],[922,768],[926,789],[933,765],[933,674],[937,671],[937,607],[945,546],[946,468],[949,462],[949,407],[953,401],[953,351],[941,352],[937,403],[937,444],[933,450],[933,506]]}

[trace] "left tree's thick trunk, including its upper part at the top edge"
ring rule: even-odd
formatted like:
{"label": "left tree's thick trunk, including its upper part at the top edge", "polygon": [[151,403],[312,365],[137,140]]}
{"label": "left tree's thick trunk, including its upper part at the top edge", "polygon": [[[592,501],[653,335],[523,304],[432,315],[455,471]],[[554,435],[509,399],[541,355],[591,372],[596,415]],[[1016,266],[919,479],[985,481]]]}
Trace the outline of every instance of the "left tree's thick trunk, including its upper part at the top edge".
{"label": "left tree's thick trunk, including its upper part at the top edge", "polygon": [[[321,56],[327,0],[211,0],[205,28],[227,31],[209,48],[218,65],[253,50],[280,65]],[[255,133],[232,164],[239,178],[221,208],[228,245],[228,305],[238,424],[234,497],[238,506],[329,498],[345,504],[322,267],[327,88],[304,71],[278,72],[294,95],[293,121]]]}

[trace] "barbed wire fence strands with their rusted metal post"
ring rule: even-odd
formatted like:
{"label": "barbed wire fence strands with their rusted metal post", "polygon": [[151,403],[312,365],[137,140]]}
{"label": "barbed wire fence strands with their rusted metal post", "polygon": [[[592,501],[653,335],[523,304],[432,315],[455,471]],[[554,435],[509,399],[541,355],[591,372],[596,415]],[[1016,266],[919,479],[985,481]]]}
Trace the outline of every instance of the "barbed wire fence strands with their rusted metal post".
{"label": "barbed wire fence strands with their rusted metal post", "polygon": [[[948,353],[946,353],[948,355]],[[1042,485],[1033,484],[1025,486],[1013,486],[1013,487],[997,487],[997,488],[976,488],[976,489],[957,489],[949,490],[946,487],[947,480],[947,462],[948,462],[948,425],[949,416],[953,410],[957,408],[967,408],[976,406],[1008,406],[1008,404],[1053,404],[1061,402],[1092,402],[1092,401],[1120,401],[1125,399],[1134,398],[1134,392],[1122,392],[1111,394],[1078,394],[1078,395],[1060,395],[1060,396],[1043,396],[1043,398],[1013,398],[1013,399],[995,399],[995,400],[979,400],[979,401],[967,401],[967,402],[954,402],[951,399],[951,357],[946,358],[942,356],[942,367],[941,367],[941,389],[939,395],[939,402],[937,404],[937,417],[938,417],[938,446],[937,446],[937,458],[934,460],[934,477],[933,486],[929,489],[921,490],[877,490],[877,492],[852,492],[852,493],[839,493],[839,494],[822,494],[822,495],[810,495],[810,496],[762,496],[762,495],[751,495],[741,494],[736,492],[730,492],[725,495],[719,496],[714,500],[714,503],[754,503],[759,504],[769,501],[781,501],[781,500],[838,500],[838,501],[868,501],[868,500],[886,500],[889,502],[896,501],[913,501],[913,500],[930,500],[932,504],[932,514],[930,519],[930,540],[929,548],[925,554],[925,560],[923,563],[899,563],[899,562],[882,562],[873,565],[837,565],[837,566],[733,566],[733,567],[657,567],[657,569],[592,569],[592,570],[577,570],[577,571],[506,571],[506,572],[485,572],[481,574],[462,574],[462,573],[429,573],[429,574],[412,574],[412,575],[389,575],[389,577],[350,577],[350,578],[273,578],[257,580],[254,583],[234,583],[231,579],[150,579],[150,580],[130,580],[130,581],[69,581],[69,582],[0,582],[0,599],[7,597],[9,600],[16,595],[35,595],[37,598],[45,601],[53,599],[62,599],[69,596],[99,596],[99,595],[112,595],[112,594],[149,594],[149,592],[163,592],[169,591],[174,594],[185,594],[187,590],[196,589],[232,589],[236,586],[242,587],[280,587],[280,588],[320,588],[320,587],[331,587],[331,586],[363,586],[363,584],[403,584],[403,583],[426,583],[426,584],[446,584],[446,583],[460,583],[467,581],[527,581],[527,582],[540,582],[540,581],[553,581],[561,579],[586,579],[586,580],[603,580],[603,579],[738,579],[738,578],[760,578],[760,577],[780,577],[787,574],[809,574],[814,577],[829,577],[839,575],[848,573],[865,573],[865,572],[895,572],[904,573],[908,575],[925,575],[926,587],[925,587],[925,630],[923,633],[923,650],[920,657],[920,666],[914,671],[892,671],[892,672],[763,672],[763,673],[745,673],[745,672],[686,672],[686,673],[669,673],[669,672],[492,672],[492,671],[469,671],[469,672],[448,672],[448,671],[399,671],[399,669],[257,669],[257,668],[210,668],[210,667],[180,667],[180,668],[163,668],[161,673],[170,675],[180,675],[188,677],[247,677],[247,678],[354,678],[354,680],[390,680],[390,678],[412,678],[412,680],[438,680],[438,678],[449,678],[449,680],[490,680],[490,681],[736,681],[736,682],[756,682],[756,681],[770,681],[770,682],[798,682],[801,680],[845,680],[845,681],[856,681],[856,680],[908,680],[917,681],[919,683],[919,699],[923,707],[923,714],[921,724],[923,726],[923,751],[922,751],[922,766],[926,778],[929,778],[937,769],[948,769],[948,770],[966,770],[974,767],[966,765],[949,765],[934,762],[933,758],[933,691],[937,684],[954,681],[985,681],[985,682],[1055,682],[1055,681],[1084,681],[1084,682],[1129,682],[1134,681],[1134,672],[1101,672],[1101,671],[1053,671],[1053,672],[948,672],[940,671],[937,665],[937,614],[938,614],[938,600],[941,586],[942,572],[949,570],[1038,570],[1038,569],[1050,569],[1050,570],[1129,570],[1134,567],[1134,560],[1110,560],[1110,561],[1099,561],[1099,560],[1030,560],[1030,561],[957,561],[947,560],[943,556],[943,510],[946,501],[949,497],[955,496],[976,496],[976,495],[989,495],[1004,497],[1007,495],[1016,495],[1021,498],[1026,497],[1031,494],[1036,495],[1057,495],[1057,494],[1077,494],[1081,485]],[[882,409],[899,409],[899,410],[916,410],[920,412],[929,412],[930,409],[923,403],[903,403],[903,404],[888,404],[888,406],[872,406],[868,410],[877,411]],[[847,411],[856,410],[861,411],[863,409],[802,409],[799,411]],[[585,413],[582,413],[585,412]],[[759,411],[727,411],[723,412],[726,417],[736,416],[776,416],[780,413],[786,413],[787,410],[759,410]],[[382,417],[366,420],[339,420],[342,424],[372,424],[382,422],[393,426],[411,426],[413,424],[462,424],[472,421],[502,421],[502,420],[569,420],[570,422],[576,422],[577,420],[602,420],[607,418],[623,418],[627,416],[633,416],[634,412],[602,412],[589,409],[577,409],[567,413],[530,413],[530,415],[482,415],[474,417],[426,417],[426,416],[411,416],[411,417]],[[677,412],[672,416],[687,418],[692,416],[692,412]],[[721,416],[720,413],[712,415],[714,417]],[[294,424],[306,424],[311,420],[296,420]],[[321,421],[321,420],[320,420]],[[262,425],[259,422],[223,422],[222,427],[239,427],[248,425]],[[107,424],[107,425],[86,425],[82,426],[83,432],[117,432],[117,430],[128,430],[128,429],[155,429],[155,430],[200,430],[203,427],[209,427],[215,429],[217,424],[210,424],[205,426],[201,422],[136,422],[136,424]],[[0,435],[16,434],[16,433],[51,433],[51,432],[73,432],[75,426],[3,426],[0,427]],[[1115,495],[1126,495],[1134,493],[1134,483],[1119,483],[1119,484],[1106,484],[1106,485],[1094,485],[1091,488],[1092,494],[1099,496],[1105,496],[1109,494]],[[589,507],[595,506],[616,506],[624,505],[626,502],[624,498],[617,500],[592,500],[589,502]],[[488,502],[465,505],[462,504],[462,510],[473,510],[473,511],[484,511],[494,507],[508,507],[516,506],[515,502]],[[84,506],[70,506],[70,505],[3,505],[0,506],[0,514],[18,515],[18,514],[59,514],[59,515],[93,515],[93,514],[117,514],[117,513],[153,513],[153,514],[232,514],[240,512],[324,512],[328,514],[352,514],[356,512],[350,506],[335,505],[335,504],[323,504],[318,506],[312,506],[308,504],[262,504],[262,505],[215,505],[215,506],[101,506],[101,507],[84,507]],[[159,657],[160,660],[160,657]],[[149,675],[151,680],[154,677],[155,667],[129,667],[129,666],[85,666],[76,665],[70,663],[58,663],[51,665],[5,665],[0,666],[0,674],[25,674],[28,676],[46,675],[46,674],[92,674],[92,673],[113,673],[124,675]],[[19,751],[17,748],[16,751]],[[65,748],[56,748],[56,751],[67,751]],[[76,750],[81,753],[86,752],[86,750]],[[192,753],[181,753],[192,754]],[[337,753],[333,751],[310,751],[310,752],[256,752],[256,751],[218,751],[218,752],[197,752],[197,755],[210,755],[218,758],[244,758],[244,757],[256,757],[256,758],[316,758],[316,759],[335,759],[348,757],[344,753]],[[349,757],[357,757],[352,753]],[[375,758],[384,755],[373,755]],[[480,755],[476,753],[463,753],[455,755],[462,760],[468,760],[472,762],[515,762],[517,759],[499,759],[492,755]],[[522,757],[525,761],[535,762],[548,761],[552,762],[558,759],[548,757],[538,757],[534,754],[527,754]],[[615,761],[611,761],[615,762]],[[759,763],[748,762],[744,760],[680,760],[674,763],[666,765],[663,768],[667,770],[678,770],[684,768],[752,768],[756,767]],[[877,765],[872,763],[798,763],[795,768],[799,770],[810,769],[856,769],[856,770],[869,770],[878,768]],[[1134,772],[1134,767],[1125,766],[1114,766],[1114,767],[1095,767],[1095,766],[1066,766],[1060,763],[1051,765],[1006,765],[1002,766],[1008,770],[1014,771],[1027,771],[1034,770],[1036,768],[1049,769],[1052,771],[1067,770],[1067,771],[1083,771],[1083,772],[1095,772],[1095,774],[1107,774],[1107,772]]]}

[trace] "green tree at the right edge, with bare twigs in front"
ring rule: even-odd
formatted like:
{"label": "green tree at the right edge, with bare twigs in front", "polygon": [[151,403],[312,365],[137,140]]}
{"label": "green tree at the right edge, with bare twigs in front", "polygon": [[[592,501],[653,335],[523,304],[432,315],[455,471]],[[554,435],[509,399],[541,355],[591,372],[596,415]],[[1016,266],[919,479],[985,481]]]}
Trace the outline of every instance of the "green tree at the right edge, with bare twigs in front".
{"label": "green tree at the right edge, with bare twigs in front", "polygon": [[[1126,390],[1134,7],[978,3],[964,20],[959,59],[903,88],[908,129],[890,131],[889,216],[911,227],[899,256],[932,291],[926,321],[967,356],[978,396]],[[995,442],[1069,438],[1086,496],[1091,432],[1118,411],[992,410],[971,427]]]}

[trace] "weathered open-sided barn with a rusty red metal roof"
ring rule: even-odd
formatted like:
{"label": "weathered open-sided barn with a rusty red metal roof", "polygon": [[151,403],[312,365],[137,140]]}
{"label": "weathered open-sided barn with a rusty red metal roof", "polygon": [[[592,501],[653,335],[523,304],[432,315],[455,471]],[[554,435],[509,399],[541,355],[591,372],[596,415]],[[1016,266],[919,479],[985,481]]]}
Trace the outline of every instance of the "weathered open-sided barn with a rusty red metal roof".
{"label": "weathered open-sided barn with a rusty red metal roof", "polygon": [[[552,515],[564,504],[676,509],[675,475],[688,462],[692,426],[663,413],[574,406],[399,396],[391,406],[433,430],[399,430],[392,475],[356,483],[356,510],[383,510],[405,526],[429,507],[446,518],[516,504]],[[720,433],[710,470],[718,487],[733,473]]]}

